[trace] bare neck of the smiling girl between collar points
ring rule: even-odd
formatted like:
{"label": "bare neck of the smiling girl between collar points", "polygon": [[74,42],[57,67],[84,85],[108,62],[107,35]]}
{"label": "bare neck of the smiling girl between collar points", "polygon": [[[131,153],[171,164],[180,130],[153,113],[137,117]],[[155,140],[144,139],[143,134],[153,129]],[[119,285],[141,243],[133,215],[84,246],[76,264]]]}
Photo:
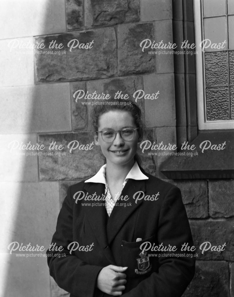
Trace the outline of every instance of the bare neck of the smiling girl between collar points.
{"label": "bare neck of the smiling girl between collar points", "polygon": [[128,164],[125,165],[118,165],[108,162],[106,163],[106,180],[107,183],[111,182],[124,182],[125,177],[131,170],[132,166],[134,165],[134,159],[131,160]]}

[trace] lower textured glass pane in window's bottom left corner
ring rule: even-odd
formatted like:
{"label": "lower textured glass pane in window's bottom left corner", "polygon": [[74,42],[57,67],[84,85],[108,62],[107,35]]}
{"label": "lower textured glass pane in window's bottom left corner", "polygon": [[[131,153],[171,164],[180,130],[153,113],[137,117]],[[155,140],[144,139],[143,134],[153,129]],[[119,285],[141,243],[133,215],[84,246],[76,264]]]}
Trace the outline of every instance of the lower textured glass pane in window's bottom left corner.
{"label": "lower textured glass pane in window's bottom left corner", "polygon": [[208,121],[228,120],[228,88],[206,89],[206,117]]}

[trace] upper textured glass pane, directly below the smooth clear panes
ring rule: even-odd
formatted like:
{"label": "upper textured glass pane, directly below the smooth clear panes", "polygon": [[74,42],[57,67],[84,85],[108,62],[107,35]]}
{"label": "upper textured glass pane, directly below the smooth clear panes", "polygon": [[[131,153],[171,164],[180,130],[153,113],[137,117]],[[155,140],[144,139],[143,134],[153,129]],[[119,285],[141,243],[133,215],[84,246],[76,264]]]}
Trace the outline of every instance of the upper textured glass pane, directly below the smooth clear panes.
{"label": "upper textured glass pane, directly below the smooth clear panes", "polygon": [[227,52],[205,53],[206,86],[228,85]]}

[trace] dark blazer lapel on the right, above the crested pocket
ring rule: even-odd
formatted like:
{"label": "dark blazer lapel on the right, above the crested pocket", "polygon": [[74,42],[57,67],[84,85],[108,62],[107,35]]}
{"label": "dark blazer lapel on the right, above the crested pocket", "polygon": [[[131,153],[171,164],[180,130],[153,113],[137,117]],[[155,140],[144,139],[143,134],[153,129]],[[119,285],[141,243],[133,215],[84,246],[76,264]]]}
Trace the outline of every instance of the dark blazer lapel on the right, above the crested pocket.
{"label": "dark blazer lapel on the right, above the crested pocket", "polygon": [[127,195],[129,199],[127,201],[118,200],[118,203],[131,203],[131,206],[114,206],[110,218],[108,220],[106,232],[109,244],[115,238],[116,234],[124,225],[124,222],[131,216],[131,214],[141,206],[143,200],[137,201],[133,199],[133,195],[138,192],[146,192],[146,182],[145,180],[133,180],[129,179],[121,192],[121,196]]}

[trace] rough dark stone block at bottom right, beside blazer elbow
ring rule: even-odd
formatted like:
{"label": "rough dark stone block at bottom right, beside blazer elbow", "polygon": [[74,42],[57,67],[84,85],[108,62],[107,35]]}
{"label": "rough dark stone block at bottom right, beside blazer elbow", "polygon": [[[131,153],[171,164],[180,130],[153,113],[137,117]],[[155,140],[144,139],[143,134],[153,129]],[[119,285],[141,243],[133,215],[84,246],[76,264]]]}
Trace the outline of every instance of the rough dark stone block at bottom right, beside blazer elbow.
{"label": "rough dark stone block at bottom right, beside blazer elbow", "polygon": [[197,261],[195,277],[183,297],[229,297],[228,263]]}

